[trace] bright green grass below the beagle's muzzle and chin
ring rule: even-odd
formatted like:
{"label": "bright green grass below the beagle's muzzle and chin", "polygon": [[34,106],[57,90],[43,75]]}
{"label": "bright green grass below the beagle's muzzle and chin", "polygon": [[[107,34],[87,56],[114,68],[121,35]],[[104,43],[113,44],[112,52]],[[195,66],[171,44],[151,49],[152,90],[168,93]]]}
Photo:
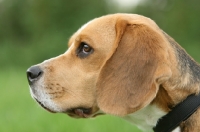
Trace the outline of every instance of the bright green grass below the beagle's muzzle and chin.
{"label": "bright green grass below the beagle's muzzle and chin", "polygon": [[26,69],[0,71],[0,132],[140,132],[114,116],[73,119],[51,114],[37,105],[29,94]]}

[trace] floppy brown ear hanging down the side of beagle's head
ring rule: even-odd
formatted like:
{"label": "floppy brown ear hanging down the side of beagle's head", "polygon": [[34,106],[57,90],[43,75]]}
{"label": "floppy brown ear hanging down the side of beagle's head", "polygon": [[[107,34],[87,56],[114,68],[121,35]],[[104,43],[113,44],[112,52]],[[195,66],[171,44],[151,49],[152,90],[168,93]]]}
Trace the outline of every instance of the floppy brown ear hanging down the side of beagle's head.
{"label": "floppy brown ear hanging down the side of beagle's head", "polygon": [[125,21],[117,22],[116,33],[116,51],[97,81],[97,103],[106,113],[126,115],[156,96],[159,36],[148,26]]}

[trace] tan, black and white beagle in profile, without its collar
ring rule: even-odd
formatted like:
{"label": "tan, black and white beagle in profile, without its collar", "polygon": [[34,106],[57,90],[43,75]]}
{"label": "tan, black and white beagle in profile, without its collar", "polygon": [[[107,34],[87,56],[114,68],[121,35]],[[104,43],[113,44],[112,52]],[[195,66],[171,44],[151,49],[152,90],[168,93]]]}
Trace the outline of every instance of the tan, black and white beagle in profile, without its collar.
{"label": "tan, black and white beagle in profile, without its collar", "polygon": [[[157,24],[137,14],[93,19],[68,50],[27,70],[31,96],[75,118],[120,116],[143,131],[200,91],[197,64]],[[200,109],[173,130],[199,132]]]}

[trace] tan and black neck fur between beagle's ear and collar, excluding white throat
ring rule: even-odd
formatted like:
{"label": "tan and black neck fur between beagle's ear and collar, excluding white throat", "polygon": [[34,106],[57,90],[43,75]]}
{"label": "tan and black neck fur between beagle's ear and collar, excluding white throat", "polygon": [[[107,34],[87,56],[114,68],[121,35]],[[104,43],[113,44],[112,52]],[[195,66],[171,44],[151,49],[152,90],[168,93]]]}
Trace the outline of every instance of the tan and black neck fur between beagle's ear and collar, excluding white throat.
{"label": "tan and black neck fur between beagle's ear and collar, excluding white throat", "polygon": [[[161,85],[165,89],[165,95],[163,96],[168,97],[171,102],[168,102],[168,105],[173,107],[187,96],[200,92],[200,65],[175,40],[166,33],[163,32],[163,34],[167,38],[170,47],[172,47],[170,51],[174,55],[172,58],[176,58],[174,62],[171,62],[171,65],[173,65],[171,68],[172,77]],[[177,63],[174,64],[175,62]],[[166,110],[169,111],[170,107]]]}

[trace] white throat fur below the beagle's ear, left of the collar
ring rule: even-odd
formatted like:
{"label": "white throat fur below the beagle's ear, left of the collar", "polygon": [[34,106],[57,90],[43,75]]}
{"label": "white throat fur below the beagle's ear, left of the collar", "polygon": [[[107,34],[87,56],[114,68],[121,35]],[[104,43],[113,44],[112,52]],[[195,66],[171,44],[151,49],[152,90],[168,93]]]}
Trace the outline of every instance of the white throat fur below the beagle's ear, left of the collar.
{"label": "white throat fur below the beagle's ear, left of the collar", "polygon": [[[135,124],[144,132],[152,132],[152,128],[156,126],[159,118],[166,113],[155,105],[148,105],[147,107],[124,117],[125,120]],[[175,131],[178,132],[178,131]]]}

